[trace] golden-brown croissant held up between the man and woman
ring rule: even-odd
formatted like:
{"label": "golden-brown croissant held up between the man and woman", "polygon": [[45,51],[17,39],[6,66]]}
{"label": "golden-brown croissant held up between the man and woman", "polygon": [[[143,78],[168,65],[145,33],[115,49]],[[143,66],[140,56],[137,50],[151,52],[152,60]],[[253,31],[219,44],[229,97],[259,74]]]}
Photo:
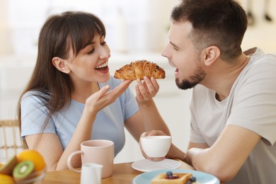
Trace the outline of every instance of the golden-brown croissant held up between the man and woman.
{"label": "golden-brown croissant held up between the man and woman", "polygon": [[155,79],[165,79],[165,71],[154,62],[148,62],[145,59],[125,64],[120,69],[115,71],[114,77],[116,79],[144,79],[144,76]]}

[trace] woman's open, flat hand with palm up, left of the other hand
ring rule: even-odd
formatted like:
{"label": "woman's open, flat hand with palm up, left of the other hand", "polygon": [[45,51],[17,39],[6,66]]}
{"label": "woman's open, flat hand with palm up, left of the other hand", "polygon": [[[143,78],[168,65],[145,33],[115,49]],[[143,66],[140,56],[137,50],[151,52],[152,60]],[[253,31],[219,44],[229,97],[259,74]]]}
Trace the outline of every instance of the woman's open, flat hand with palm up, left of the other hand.
{"label": "woman's open, flat hand with palm up, left of the other hand", "polygon": [[99,110],[102,110],[106,106],[113,103],[125,90],[130,86],[132,81],[125,80],[122,83],[110,90],[110,86],[106,85],[103,88],[100,88],[99,91],[93,93],[89,98],[86,99],[86,108],[91,113],[98,113]]}

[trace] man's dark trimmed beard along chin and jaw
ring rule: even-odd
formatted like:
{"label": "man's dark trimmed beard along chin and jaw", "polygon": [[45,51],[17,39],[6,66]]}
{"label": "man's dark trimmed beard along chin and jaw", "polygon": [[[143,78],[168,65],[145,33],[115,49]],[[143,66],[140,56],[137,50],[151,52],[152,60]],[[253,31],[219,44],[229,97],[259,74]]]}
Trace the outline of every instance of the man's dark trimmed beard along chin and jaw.
{"label": "man's dark trimmed beard along chin and jaw", "polygon": [[205,76],[205,71],[198,67],[195,71],[195,74],[190,76],[188,79],[183,79],[182,81],[180,81],[180,79],[176,79],[176,86],[184,90],[188,88],[193,88],[197,84],[199,84],[205,78]]}

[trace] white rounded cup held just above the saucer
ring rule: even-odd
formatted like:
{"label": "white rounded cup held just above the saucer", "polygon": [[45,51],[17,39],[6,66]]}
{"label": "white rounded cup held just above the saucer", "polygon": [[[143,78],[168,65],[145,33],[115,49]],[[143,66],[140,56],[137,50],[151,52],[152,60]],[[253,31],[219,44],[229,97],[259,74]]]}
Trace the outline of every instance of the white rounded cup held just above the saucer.
{"label": "white rounded cup held just above the saucer", "polygon": [[171,136],[146,136],[140,139],[146,156],[151,158],[164,157],[171,147]]}

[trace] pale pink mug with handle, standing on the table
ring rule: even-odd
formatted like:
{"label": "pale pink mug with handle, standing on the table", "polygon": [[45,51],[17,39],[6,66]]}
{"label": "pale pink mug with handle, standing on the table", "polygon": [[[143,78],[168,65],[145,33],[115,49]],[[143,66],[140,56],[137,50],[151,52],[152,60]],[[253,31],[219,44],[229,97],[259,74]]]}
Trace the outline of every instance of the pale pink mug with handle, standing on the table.
{"label": "pale pink mug with handle, standing on the table", "polygon": [[114,161],[114,142],[104,139],[88,140],[81,143],[81,150],[68,156],[67,166],[71,171],[81,172],[71,165],[71,159],[81,154],[81,163],[98,163],[103,166],[102,178],[112,176]]}

